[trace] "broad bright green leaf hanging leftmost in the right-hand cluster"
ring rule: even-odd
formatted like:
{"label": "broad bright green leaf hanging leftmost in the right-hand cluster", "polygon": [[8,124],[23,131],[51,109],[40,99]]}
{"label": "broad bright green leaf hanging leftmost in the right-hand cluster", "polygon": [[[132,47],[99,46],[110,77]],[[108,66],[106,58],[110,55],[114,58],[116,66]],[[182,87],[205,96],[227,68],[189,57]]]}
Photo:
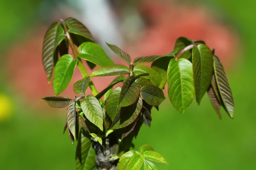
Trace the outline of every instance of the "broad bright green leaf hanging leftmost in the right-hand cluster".
{"label": "broad bright green leaf hanging leftmost in the right-hand cluster", "polygon": [[180,113],[194,99],[192,63],[180,58],[178,61],[171,59],[167,71],[168,95],[174,108]]}

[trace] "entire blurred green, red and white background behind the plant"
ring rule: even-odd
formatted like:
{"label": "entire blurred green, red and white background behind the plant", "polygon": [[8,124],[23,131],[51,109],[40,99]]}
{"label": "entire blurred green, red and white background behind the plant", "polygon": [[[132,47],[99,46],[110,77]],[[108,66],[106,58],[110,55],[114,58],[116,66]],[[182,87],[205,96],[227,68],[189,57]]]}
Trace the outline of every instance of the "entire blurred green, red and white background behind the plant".
{"label": "entire blurred green, red and white background behind the plant", "polygon": [[[131,57],[168,54],[180,36],[215,48],[234,96],[235,119],[215,114],[208,96],[180,114],[169,100],[153,110],[135,149],[151,144],[169,165],[160,170],[255,170],[256,2],[252,0],[8,0],[0,1],[0,169],[72,170],[76,146],[62,135],[65,109],[41,101],[53,96],[41,64],[52,21],[81,20],[104,45]],[[73,82],[81,79],[79,71]],[[101,90],[111,79],[93,79]],[[63,96],[73,97],[72,86]]]}

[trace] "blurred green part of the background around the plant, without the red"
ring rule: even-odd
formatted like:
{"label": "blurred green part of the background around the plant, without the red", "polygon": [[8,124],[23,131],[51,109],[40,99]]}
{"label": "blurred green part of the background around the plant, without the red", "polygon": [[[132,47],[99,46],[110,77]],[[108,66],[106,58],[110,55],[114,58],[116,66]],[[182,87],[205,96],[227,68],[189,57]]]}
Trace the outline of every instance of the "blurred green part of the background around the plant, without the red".
{"label": "blurred green part of the background around the plant, without the red", "polygon": [[[169,163],[157,164],[160,170],[255,170],[256,2],[197,2],[198,5],[209,9],[213,17],[216,15],[229,23],[229,28],[236,30],[239,35],[239,51],[234,55],[235,62],[229,65],[227,61],[225,64],[228,65],[227,77],[234,96],[235,118],[229,119],[222,110],[224,120],[220,121],[207,95],[204,96],[200,107],[193,102],[185,114],[175,111],[166,99],[159,112],[153,110],[151,127],[142,127],[138,138],[134,140],[135,149],[142,144],[151,144]],[[19,45],[23,40],[27,40],[32,34],[30,30],[38,29],[42,25],[49,26],[51,20],[59,19],[58,11],[63,17],[70,14],[69,12],[63,15],[63,10],[76,8],[75,5],[69,6],[70,1],[63,3],[66,6],[60,7],[59,4],[62,4],[61,1],[50,0],[0,2],[1,170],[75,169],[76,146],[71,146],[67,134],[61,134],[66,120],[65,114],[55,114],[55,110],[45,108],[47,105],[43,105],[43,108],[38,104],[34,105],[35,98],[27,97],[26,93],[20,94],[21,90],[12,84],[13,74],[9,74],[18,73],[20,70],[6,64],[12,63],[15,57],[20,57],[19,51],[16,50],[17,55],[9,59],[8,51],[12,51],[12,45]],[[55,17],[52,17],[53,15]],[[42,40],[38,42],[40,41],[42,43]],[[41,48],[41,44],[38,46]],[[37,61],[41,61],[41,51],[33,57],[40,58]],[[26,62],[21,64],[26,65]],[[37,74],[33,76],[38,77]],[[46,77],[40,79],[46,82]],[[18,81],[16,83],[19,84]],[[35,86],[29,80],[27,85]],[[41,88],[38,87],[39,91]],[[41,94],[38,94],[36,99],[40,100],[45,96]]]}

